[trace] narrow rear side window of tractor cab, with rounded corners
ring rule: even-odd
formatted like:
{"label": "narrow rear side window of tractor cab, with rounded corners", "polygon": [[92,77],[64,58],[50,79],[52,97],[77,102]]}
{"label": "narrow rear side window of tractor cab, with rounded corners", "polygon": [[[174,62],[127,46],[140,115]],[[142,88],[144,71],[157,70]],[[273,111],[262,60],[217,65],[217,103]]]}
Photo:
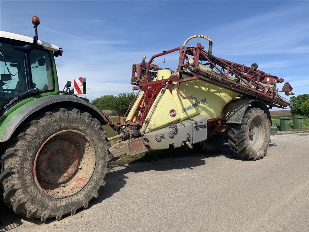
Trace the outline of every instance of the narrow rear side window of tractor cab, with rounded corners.
{"label": "narrow rear side window of tractor cab, with rounded corners", "polygon": [[29,53],[32,88],[38,88],[40,92],[54,90],[53,68],[50,54],[44,50],[33,49]]}

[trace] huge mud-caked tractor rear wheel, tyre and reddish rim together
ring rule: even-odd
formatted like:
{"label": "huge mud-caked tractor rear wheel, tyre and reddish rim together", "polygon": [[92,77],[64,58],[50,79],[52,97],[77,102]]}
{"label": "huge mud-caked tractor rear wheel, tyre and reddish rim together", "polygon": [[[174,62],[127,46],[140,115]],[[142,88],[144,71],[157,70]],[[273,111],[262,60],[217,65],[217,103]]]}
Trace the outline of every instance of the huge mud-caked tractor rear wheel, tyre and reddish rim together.
{"label": "huge mud-caked tractor rear wheel, tyre and reddish rim together", "polygon": [[89,113],[53,108],[14,136],[2,156],[0,183],[4,202],[16,213],[60,220],[98,197],[109,172],[110,143]]}

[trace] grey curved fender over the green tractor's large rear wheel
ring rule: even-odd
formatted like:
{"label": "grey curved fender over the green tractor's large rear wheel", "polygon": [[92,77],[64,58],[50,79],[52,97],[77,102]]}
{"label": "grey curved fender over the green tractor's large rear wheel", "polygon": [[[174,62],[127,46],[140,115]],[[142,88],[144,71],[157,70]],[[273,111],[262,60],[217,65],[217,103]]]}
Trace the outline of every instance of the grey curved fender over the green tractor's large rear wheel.
{"label": "grey curved fender over the green tractor's large rear wheel", "polygon": [[38,99],[37,101],[33,102],[32,104],[21,110],[4,129],[0,137],[0,142],[5,142],[9,140],[14,131],[16,131],[16,129],[32,114],[35,114],[36,112],[44,110],[46,108],[62,106],[70,106],[78,110],[86,111],[91,114],[93,118],[98,119],[102,125],[106,124],[106,121],[104,120],[104,115],[97,108],[95,108],[95,106],[87,103],[79,97],[68,95],[53,95],[50,97]]}

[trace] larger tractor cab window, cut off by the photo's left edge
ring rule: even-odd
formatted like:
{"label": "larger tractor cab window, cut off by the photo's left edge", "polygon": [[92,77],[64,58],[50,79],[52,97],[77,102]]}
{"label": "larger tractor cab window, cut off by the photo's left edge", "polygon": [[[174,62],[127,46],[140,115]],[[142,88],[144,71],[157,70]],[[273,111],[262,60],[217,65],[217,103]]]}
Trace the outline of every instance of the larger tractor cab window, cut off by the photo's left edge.
{"label": "larger tractor cab window, cut off by the photo's left edge", "polygon": [[0,109],[28,90],[23,51],[0,43]]}

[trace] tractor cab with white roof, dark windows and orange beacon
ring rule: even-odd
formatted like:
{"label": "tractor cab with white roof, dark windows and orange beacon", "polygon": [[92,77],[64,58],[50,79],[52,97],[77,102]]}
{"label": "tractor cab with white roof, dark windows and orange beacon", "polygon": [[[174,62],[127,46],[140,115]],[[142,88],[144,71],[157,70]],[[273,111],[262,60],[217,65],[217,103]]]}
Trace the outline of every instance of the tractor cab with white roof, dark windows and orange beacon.
{"label": "tractor cab with white roof, dark windows and orange beacon", "polygon": [[0,31],[0,114],[31,95],[58,90],[58,55],[61,49],[38,40],[37,30],[34,38]]}

